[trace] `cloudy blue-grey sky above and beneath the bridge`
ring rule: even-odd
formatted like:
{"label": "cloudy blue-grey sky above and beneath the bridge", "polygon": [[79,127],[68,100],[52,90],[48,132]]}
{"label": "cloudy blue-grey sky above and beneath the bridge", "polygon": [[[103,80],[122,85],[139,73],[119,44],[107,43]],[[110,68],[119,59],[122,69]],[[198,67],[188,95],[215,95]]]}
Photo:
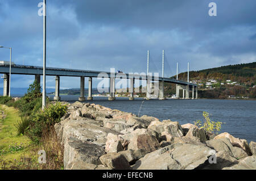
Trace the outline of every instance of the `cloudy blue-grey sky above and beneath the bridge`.
{"label": "cloudy blue-grey sky above and beneath the bridge", "polygon": [[[0,0],[0,45],[13,48],[15,64],[43,65],[40,2]],[[209,16],[210,2],[217,16]],[[47,66],[142,73],[147,50],[150,71],[160,74],[165,50],[164,77],[176,74],[176,62],[179,72],[187,62],[190,70],[254,62],[255,10],[255,0],[48,0]],[[8,49],[0,49],[0,60],[9,61]],[[60,79],[61,89],[80,87],[80,78]],[[31,75],[13,75],[11,87],[33,81]],[[55,87],[54,77],[46,81]]]}

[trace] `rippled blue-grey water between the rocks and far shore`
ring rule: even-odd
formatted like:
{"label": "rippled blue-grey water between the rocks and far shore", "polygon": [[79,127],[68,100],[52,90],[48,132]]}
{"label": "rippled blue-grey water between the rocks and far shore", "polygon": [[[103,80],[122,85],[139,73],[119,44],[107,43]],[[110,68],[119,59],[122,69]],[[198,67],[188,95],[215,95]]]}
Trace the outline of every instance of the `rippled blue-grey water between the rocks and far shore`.
{"label": "rippled blue-grey water between the rocks and far shore", "polygon": [[[50,96],[53,98],[53,96]],[[79,96],[61,96],[61,100],[75,102]],[[143,99],[133,101],[127,98],[116,98],[110,102],[106,97],[94,97],[89,103],[100,104],[116,110],[139,113]],[[140,116],[148,115],[160,120],[170,119],[180,124],[192,123],[197,119],[203,121],[203,111],[211,113],[210,119],[221,121],[221,132],[228,132],[234,137],[247,141],[256,141],[256,101],[254,100],[145,100]]]}

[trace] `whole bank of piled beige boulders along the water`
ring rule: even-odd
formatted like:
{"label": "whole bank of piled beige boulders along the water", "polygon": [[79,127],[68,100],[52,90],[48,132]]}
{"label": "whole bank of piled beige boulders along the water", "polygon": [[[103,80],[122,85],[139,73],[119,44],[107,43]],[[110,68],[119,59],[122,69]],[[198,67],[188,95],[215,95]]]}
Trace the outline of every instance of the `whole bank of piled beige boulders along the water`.
{"label": "whole bank of piled beige boulders along the water", "polygon": [[64,169],[256,169],[256,143],[193,124],[75,102],[55,124]]}

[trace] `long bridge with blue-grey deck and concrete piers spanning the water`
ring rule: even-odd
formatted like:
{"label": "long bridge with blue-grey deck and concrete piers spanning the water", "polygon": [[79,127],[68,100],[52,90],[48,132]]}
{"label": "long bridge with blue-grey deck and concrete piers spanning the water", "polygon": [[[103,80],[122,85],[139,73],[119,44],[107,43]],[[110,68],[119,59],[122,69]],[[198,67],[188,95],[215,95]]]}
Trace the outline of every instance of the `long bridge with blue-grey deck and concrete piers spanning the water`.
{"label": "long bridge with blue-grey deck and concrete piers spanning the water", "polygon": [[[0,64],[0,74],[3,74],[3,96],[9,95],[9,73],[10,65]],[[179,81],[177,79],[156,77],[154,75],[143,75],[143,74],[131,74],[127,73],[111,73],[102,71],[91,71],[91,70],[76,70],[76,69],[62,69],[62,68],[46,68],[46,75],[55,76],[56,86],[55,86],[55,97],[54,100],[60,100],[59,90],[60,90],[60,77],[80,77],[80,98],[79,100],[84,101],[84,82],[85,77],[89,78],[88,86],[88,100],[92,100],[92,78],[97,78],[100,74],[104,73],[108,75],[110,79],[110,95],[109,100],[115,99],[115,78],[122,77],[130,79],[130,98],[129,100],[134,100],[134,80],[146,80],[146,99],[150,99],[150,82],[159,82],[159,99],[164,100],[164,82],[175,83],[176,86],[176,98],[180,98],[180,90],[183,90],[183,99],[190,99],[189,90],[192,89],[192,99],[197,99],[197,85],[194,83]],[[40,75],[43,75],[42,66],[29,66],[29,65],[11,65],[11,74],[22,74],[22,75],[35,75],[35,81],[40,83]],[[114,76],[113,76],[114,74]],[[118,75],[118,76],[117,76]],[[195,94],[194,94],[195,93]],[[195,96],[196,95],[196,96]]]}

